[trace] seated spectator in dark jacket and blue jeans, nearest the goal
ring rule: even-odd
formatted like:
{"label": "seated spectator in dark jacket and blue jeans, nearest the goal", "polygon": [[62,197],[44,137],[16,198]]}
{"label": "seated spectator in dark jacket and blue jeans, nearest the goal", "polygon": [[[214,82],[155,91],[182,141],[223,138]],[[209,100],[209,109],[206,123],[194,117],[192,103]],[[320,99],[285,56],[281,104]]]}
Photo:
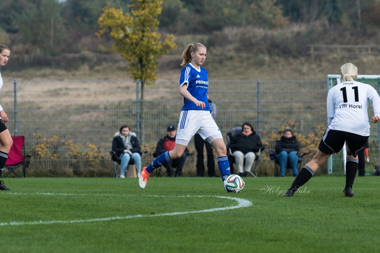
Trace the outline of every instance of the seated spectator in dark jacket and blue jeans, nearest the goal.
{"label": "seated spectator in dark jacket and blue jeans, nearest the goal", "polygon": [[291,169],[293,171],[293,176],[298,175],[298,151],[300,145],[293,135],[293,130],[291,128],[285,128],[283,131],[284,135],[281,136],[280,140],[276,141],[274,146],[275,154],[279,158],[280,162],[280,177],[285,176],[285,168],[288,163],[290,163]]}

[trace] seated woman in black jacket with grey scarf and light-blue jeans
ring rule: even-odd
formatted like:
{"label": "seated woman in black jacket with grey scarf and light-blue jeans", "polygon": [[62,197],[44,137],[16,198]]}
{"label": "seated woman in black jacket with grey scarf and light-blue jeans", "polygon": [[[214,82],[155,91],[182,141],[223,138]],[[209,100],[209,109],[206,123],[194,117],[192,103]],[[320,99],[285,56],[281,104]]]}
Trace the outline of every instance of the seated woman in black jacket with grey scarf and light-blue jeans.
{"label": "seated woman in black jacket with grey scarf and light-blue jeans", "polygon": [[125,178],[125,170],[127,169],[130,160],[136,165],[137,177],[141,171],[141,154],[140,144],[135,134],[131,133],[128,125],[120,127],[119,132],[116,132],[112,140],[112,151],[121,160],[120,163],[120,178]]}

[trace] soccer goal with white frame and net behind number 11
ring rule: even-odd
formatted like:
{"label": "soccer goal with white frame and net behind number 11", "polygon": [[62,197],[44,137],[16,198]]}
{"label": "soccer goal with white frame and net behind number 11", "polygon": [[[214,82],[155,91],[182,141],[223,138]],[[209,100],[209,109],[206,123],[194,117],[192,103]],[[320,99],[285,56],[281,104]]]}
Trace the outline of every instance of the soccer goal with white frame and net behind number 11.
{"label": "soccer goal with white frame and net behind number 11", "polygon": [[[356,81],[361,83],[367,83],[369,85],[372,85],[375,90],[377,90],[377,93],[380,91],[380,75],[358,75]],[[339,84],[341,82],[340,74],[329,74],[327,75],[327,91],[329,91],[332,87]],[[373,115],[373,108],[372,106],[368,107],[368,116]],[[372,123],[371,123],[372,124]],[[373,124],[372,124],[373,127]],[[371,129],[371,135],[369,137],[369,141],[376,141],[377,145],[375,147],[370,147],[372,149],[372,157],[371,162],[374,163],[374,165],[378,164],[378,154],[380,153],[379,143],[380,143],[380,123],[377,124],[377,131],[372,128]],[[334,158],[333,156],[330,156],[327,162],[327,171],[329,174],[333,172],[334,166],[339,166],[339,160],[342,159],[342,167],[344,170],[344,174],[346,173],[346,145],[344,145],[342,149],[342,157]],[[336,161],[335,161],[336,160]],[[371,163],[370,163],[371,164]]]}

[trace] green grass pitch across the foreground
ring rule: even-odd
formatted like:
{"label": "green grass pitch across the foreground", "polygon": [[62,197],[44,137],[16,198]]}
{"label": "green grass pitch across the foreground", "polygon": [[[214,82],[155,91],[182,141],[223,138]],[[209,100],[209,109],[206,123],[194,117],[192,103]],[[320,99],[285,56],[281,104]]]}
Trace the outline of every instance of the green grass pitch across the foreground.
{"label": "green grass pitch across the foreground", "polygon": [[[312,178],[293,198],[293,178],[5,178],[2,252],[375,252],[380,177]],[[279,190],[281,192],[279,192]],[[276,192],[277,191],[277,192]]]}

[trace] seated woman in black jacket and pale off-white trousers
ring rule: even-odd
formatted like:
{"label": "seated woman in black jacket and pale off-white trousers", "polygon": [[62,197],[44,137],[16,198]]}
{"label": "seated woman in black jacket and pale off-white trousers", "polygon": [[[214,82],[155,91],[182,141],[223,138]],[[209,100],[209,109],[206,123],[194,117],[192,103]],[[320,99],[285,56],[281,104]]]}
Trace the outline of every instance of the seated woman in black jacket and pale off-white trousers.
{"label": "seated woman in black jacket and pale off-white trousers", "polygon": [[239,176],[247,176],[255,161],[255,152],[258,152],[263,147],[263,144],[261,143],[260,136],[253,130],[252,125],[244,123],[242,132],[235,135],[228,147],[231,148],[232,156],[235,159],[237,173]]}

